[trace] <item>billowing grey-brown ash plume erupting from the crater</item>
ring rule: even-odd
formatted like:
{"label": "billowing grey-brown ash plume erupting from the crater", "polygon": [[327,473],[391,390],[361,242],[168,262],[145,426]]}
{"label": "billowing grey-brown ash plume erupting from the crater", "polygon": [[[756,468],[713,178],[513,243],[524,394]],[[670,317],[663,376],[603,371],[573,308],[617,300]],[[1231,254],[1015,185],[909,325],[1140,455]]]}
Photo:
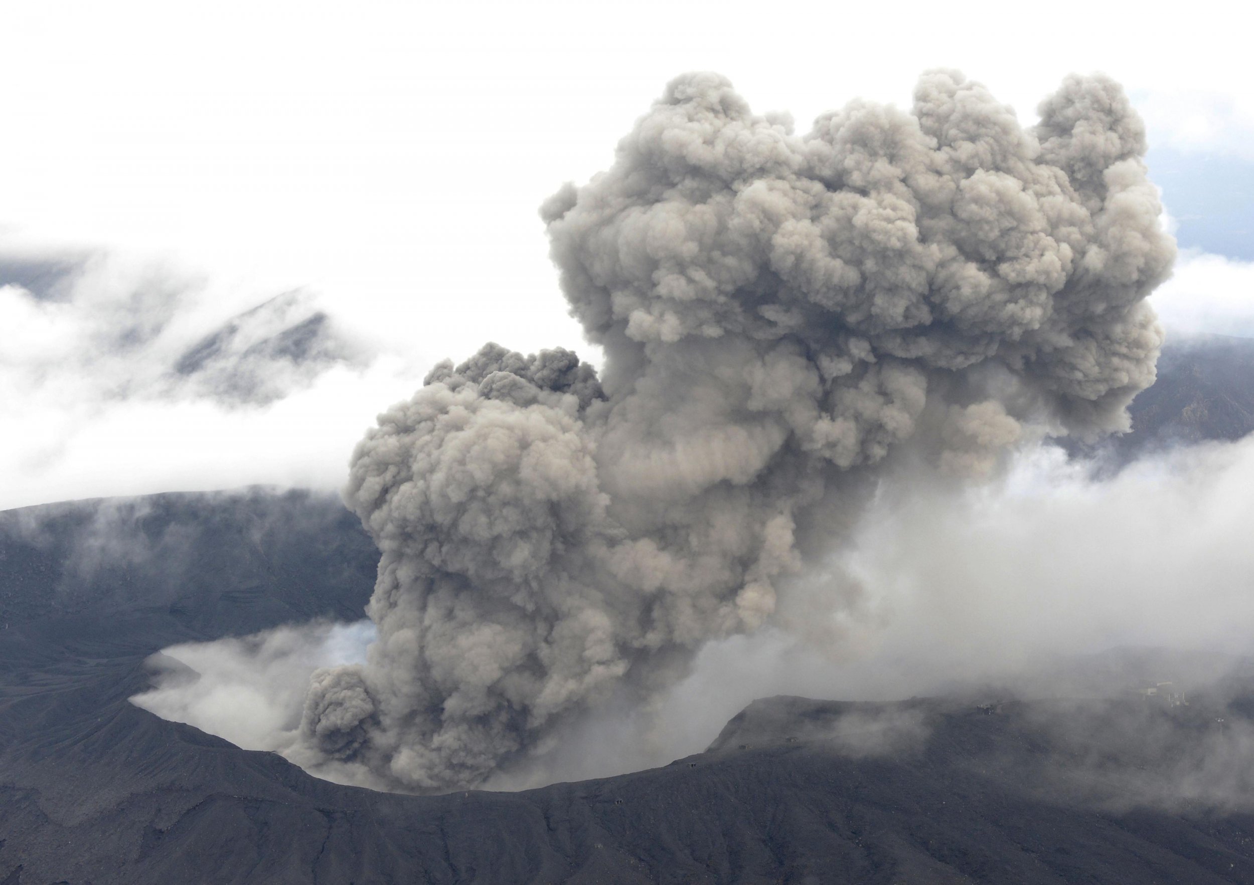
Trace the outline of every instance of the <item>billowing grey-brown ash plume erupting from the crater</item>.
{"label": "billowing grey-brown ash plume erupting from the crater", "polygon": [[306,741],[403,788],[479,782],[761,626],[894,446],[981,474],[1028,420],[1126,429],[1174,257],[1144,150],[1102,76],[1022,129],[933,71],[910,113],[854,102],[804,137],[676,79],[542,209],[601,380],[489,345],[354,454],[379,641],[315,676]]}

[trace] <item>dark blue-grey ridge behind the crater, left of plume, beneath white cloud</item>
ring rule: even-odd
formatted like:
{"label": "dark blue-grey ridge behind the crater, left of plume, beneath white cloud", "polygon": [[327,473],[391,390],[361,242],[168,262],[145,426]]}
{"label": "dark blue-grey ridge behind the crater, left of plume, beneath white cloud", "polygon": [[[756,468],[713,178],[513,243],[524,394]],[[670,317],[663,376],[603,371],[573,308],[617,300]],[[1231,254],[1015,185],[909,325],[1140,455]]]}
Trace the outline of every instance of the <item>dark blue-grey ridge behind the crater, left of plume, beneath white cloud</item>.
{"label": "dark blue-grey ridge behind the crater, left of plume, beneath white cloud", "polygon": [[0,634],[8,623],[8,642],[135,636],[157,651],[316,617],[356,621],[377,563],[356,516],[326,494],[166,494],[5,510]]}

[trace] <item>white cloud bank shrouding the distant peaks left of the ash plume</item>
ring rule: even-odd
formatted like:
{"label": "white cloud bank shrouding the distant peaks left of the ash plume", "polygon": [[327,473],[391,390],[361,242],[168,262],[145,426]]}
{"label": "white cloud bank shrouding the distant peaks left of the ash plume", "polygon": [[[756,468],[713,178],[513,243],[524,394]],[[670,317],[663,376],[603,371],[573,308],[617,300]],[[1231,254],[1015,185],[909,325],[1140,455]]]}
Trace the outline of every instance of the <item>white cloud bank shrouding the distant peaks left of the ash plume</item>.
{"label": "white cloud bank shrouding the distant peaks left of the ash plume", "polygon": [[0,509],[252,483],[337,486],[418,370],[310,291],[0,242]]}

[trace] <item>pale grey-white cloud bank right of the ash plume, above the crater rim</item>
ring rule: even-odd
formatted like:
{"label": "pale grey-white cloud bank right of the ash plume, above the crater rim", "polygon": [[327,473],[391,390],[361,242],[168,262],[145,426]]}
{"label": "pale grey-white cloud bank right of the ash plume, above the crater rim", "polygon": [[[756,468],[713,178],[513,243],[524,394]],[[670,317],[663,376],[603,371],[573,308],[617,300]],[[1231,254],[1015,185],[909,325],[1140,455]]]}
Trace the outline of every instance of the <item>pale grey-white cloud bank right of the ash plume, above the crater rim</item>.
{"label": "pale grey-white cloud bank right of the ash plume, above the crater rim", "polygon": [[[899,474],[826,574],[789,588],[779,631],[707,647],[693,679],[721,673],[735,708],[781,692],[1013,683],[1115,647],[1246,653],[1251,481],[1251,439],[1176,449],[1105,481],[1052,448],[979,488]],[[825,605],[838,585],[844,605]]]}

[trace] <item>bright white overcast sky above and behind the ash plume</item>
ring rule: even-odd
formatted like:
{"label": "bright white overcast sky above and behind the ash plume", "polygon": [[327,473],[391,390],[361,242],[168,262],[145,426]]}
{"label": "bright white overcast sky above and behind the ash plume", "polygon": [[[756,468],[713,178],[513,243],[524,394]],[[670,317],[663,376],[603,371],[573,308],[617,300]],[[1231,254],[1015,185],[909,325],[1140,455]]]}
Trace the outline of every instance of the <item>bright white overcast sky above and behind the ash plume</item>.
{"label": "bright white overcast sky above and behind the ash plume", "polygon": [[[851,6],[6,9],[0,508],[334,488],[374,415],[434,360],[489,338],[579,350],[537,207],[607,167],[692,69],[801,130],[855,97],[908,105],[933,66],[982,80],[1025,122],[1065,74],[1104,70],[1149,123],[1151,175],[1188,247],[1156,296],[1165,322],[1254,335],[1254,89],[1230,5]],[[325,311],[329,350],[307,376],[258,392],[231,375],[231,395],[218,364],[171,380],[204,336],[292,290],[224,346],[266,375],[251,345]]]}

